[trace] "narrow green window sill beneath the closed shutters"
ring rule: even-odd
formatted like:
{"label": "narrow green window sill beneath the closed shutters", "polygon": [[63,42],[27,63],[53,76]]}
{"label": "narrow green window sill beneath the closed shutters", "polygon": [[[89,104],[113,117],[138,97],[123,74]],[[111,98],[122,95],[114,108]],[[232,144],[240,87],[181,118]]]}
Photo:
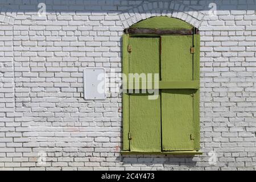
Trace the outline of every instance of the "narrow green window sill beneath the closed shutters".
{"label": "narrow green window sill beneath the closed shutters", "polygon": [[121,154],[124,155],[143,155],[143,154],[151,154],[151,155],[202,155],[201,151],[165,151],[165,152],[131,152],[131,151],[121,151]]}

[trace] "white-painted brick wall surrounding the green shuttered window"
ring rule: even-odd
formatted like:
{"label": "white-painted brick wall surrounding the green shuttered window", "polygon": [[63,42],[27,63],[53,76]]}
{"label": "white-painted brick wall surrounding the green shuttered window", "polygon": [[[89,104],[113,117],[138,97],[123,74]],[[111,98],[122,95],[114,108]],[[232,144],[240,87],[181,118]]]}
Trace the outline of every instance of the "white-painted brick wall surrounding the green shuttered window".
{"label": "white-painted brick wall surrounding the green shuttered window", "polygon": [[[256,1],[0,5],[1,170],[255,170]],[[121,94],[83,99],[82,70],[121,73],[123,29],[159,15],[200,30],[200,156],[122,156]]]}

